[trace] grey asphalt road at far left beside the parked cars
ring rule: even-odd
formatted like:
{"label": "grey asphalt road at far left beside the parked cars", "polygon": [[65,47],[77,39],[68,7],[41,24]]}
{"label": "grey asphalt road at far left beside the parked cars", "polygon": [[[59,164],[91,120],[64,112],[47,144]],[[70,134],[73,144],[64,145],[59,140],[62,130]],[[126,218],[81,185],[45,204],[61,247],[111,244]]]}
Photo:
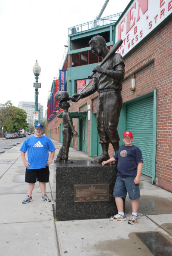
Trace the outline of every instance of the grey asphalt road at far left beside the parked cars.
{"label": "grey asphalt road at far left beside the parked cars", "polygon": [[3,140],[0,140],[0,154],[4,154],[10,148],[15,147],[18,144],[22,145],[22,143],[25,141],[25,139],[27,137],[18,138],[18,139],[3,139]]}

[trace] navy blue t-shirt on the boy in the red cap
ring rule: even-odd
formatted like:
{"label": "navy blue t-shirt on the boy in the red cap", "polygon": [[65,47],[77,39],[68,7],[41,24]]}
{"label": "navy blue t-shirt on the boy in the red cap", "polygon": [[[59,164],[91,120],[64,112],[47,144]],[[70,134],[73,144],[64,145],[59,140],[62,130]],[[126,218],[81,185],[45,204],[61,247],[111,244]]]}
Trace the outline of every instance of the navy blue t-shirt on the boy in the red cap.
{"label": "navy blue t-shirt on the boy in the red cap", "polygon": [[114,158],[118,160],[118,174],[122,176],[136,176],[137,163],[143,162],[141,150],[135,145],[120,146]]}

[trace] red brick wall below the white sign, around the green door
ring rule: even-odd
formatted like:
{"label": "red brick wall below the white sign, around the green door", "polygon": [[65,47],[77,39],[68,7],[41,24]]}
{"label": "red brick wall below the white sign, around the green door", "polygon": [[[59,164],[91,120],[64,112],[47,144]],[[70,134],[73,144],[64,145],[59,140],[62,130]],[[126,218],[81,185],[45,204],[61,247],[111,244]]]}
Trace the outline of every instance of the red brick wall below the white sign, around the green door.
{"label": "red brick wall below the white sign, around the green door", "polygon": [[149,61],[154,63],[138,72],[136,90],[130,91],[130,79],[123,83],[123,102],[157,89],[156,184],[172,191],[172,21],[125,59],[125,76]]}

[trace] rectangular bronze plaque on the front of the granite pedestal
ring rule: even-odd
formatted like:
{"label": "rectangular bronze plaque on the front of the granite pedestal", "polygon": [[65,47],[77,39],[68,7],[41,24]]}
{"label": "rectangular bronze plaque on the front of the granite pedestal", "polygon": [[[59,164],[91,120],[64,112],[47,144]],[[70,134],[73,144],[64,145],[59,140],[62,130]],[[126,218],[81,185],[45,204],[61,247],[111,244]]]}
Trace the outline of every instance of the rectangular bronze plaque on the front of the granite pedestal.
{"label": "rectangular bronze plaque on the front of the granite pedestal", "polygon": [[74,202],[95,202],[109,200],[109,184],[74,185]]}

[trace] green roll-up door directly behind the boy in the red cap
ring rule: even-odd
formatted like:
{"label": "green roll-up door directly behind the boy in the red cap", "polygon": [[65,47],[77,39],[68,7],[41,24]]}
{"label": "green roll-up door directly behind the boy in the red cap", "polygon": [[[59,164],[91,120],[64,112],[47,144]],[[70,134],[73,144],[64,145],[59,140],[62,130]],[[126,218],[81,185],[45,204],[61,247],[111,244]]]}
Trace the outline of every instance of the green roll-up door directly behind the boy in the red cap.
{"label": "green roll-up door directly behind the boy in the red cap", "polygon": [[126,106],[126,130],[133,133],[133,144],[142,151],[142,173],[150,177],[153,172],[153,107],[153,97]]}

